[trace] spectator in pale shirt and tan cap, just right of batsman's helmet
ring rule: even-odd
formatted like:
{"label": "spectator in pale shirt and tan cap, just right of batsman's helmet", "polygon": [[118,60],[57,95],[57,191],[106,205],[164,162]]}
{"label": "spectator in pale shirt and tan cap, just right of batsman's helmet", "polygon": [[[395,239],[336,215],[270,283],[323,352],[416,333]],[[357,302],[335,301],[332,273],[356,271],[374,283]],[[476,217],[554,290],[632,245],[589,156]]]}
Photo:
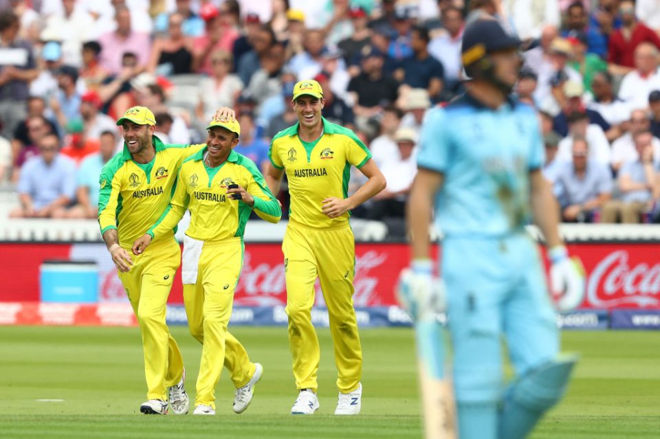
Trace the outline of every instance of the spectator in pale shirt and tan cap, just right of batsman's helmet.
{"label": "spectator in pale shirt and tan cap, just right of batsman's helmet", "polygon": [[558,104],[550,111],[551,113],[557,113],[561,109],[562,102],[555,101],[558,101],[557,93],[561,91],[560,87],[566,80],[582,83],[582,76],[566,65],[572,52],[569,41],[564,38],[555,38],[550,45],[549,62],[542,63],[540,66],[534,98],[543,109],[549,109],[549,104],[546,102],[552,101],[551,106]]}

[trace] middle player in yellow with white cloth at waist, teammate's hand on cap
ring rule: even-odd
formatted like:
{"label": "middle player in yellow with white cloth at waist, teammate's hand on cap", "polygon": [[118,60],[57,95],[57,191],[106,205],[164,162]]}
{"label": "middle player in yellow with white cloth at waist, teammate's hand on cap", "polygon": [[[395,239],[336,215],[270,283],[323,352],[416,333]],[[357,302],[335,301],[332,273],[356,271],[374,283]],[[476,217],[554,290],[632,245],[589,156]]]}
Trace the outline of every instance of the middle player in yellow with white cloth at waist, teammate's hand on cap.
{"label": "middle player in yellow with white cloth at waist, teammate's hand on cap", "polygon": [[271,223],[282,215],[254,162],[233,150],[239,143],[239,123],[213,120],[207,130],[207,148],[181,165],[168,209],[133,245],[135,254],[151,248],[150,243],[168,234],[190,209],[182,277],[190,332],[203,346],[192,412],[200,415],[215,414],[215,386],[223,363],[232,371],[236,386],[234,412],[243,412],[252,401],[263,368],[250,362],[227,326],[243,267],[243,232],[250,212]]}

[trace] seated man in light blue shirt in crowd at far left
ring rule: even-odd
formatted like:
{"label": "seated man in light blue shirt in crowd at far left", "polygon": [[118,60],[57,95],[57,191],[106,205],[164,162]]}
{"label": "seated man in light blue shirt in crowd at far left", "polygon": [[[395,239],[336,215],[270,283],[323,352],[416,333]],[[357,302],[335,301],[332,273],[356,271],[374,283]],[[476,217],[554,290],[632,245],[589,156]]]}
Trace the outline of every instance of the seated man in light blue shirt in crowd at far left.
{"label": "seated man in light blue shirt in crowd at far left", "polygon": [[17,186],[21,206],[10,218],[64,218],[76,195],[76,166],[61,155],[60,141],[54,134],[39,140],[39,155],[21,169]]}

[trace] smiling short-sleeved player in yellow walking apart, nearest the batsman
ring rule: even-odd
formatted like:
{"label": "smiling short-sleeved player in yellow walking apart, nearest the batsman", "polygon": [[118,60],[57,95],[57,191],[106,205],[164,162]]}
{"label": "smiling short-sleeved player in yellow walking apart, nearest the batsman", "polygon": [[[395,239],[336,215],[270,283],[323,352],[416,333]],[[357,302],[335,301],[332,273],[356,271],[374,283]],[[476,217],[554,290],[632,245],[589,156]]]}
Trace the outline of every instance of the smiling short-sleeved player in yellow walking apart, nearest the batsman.
{"label": "smiling short-sleeved player in yellow walking apart, nearest the batsman", "polygon": [[[282,249],[287,283],[289,347],[300,391],[292,414],[314,414],[318,338],[311,324],[314,282],[318,277],[330,317],[338,369],[335,414],[358,414],[362,401],[362,348],[353,308],[355,239],[350,210],[385,188],[371,153],[353,131],[321,117],[323,90],[304,80],[294,87],[292,106],[298,123],[278,133],[270,146],[266,175],[277,194],[283,174],[289,181],[291,208]],[[348,196],[351,165],[369,179]]]}

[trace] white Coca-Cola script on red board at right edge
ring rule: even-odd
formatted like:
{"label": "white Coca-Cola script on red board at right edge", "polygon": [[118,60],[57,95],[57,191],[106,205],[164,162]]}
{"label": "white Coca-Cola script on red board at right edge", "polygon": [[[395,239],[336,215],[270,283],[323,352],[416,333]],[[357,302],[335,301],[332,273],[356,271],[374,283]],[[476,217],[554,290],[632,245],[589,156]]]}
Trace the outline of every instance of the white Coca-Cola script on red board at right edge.
{"label": "white Coca-Cola script on red board at right edge", "polygon": [[588,302],[599,308],[624,305],[659,306],[660,262],[630,267],[628,251],[614,251],[591,271],[586,287]]}

